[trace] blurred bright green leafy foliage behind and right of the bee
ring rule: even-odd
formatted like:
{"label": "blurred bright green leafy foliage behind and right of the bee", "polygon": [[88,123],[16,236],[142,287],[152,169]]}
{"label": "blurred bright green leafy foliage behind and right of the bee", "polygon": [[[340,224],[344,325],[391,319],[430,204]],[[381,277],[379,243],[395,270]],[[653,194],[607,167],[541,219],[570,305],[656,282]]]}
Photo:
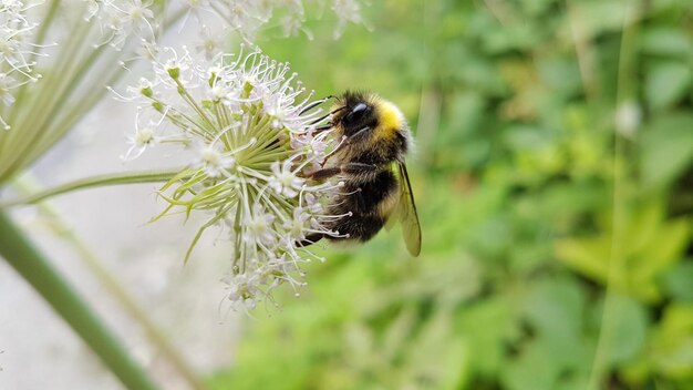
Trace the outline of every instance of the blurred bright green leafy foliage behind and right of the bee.
{"label": "blurred bright green leafy foliage behind and right of the bee", "polygon": [[[423,228],[308,267],[219,389],[693,389],[693,3],[372,1],[260,45],[416,133]],[[272,310],[270,309],[270,312]]]}

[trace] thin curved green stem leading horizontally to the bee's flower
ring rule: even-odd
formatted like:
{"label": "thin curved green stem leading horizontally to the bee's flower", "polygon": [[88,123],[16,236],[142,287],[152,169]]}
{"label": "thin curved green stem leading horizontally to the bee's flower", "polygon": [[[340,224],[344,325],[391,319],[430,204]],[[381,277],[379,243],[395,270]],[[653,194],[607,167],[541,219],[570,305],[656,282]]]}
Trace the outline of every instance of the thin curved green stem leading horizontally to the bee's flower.
{"label": "thin curved green stem leading horizontally to the bee's flower", "polygon": [[155,182],[168,182],[182,170],[172,171],[152,171],[152,172],[125,172],[107,175],[97,175],[92,177],[81,178],[74,182],[65,183],[53,188],[48,188],[38,194],[21,197],[19,199],[10,199],[0,202],[0,209],[18,205],[28,205],[43,201],[48,197],[70,193],[77,189],[102,187],[106,185],[116,184],[135,184],[135,183],[155,183]]}

